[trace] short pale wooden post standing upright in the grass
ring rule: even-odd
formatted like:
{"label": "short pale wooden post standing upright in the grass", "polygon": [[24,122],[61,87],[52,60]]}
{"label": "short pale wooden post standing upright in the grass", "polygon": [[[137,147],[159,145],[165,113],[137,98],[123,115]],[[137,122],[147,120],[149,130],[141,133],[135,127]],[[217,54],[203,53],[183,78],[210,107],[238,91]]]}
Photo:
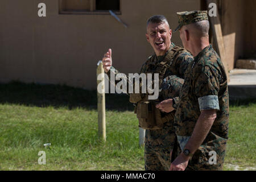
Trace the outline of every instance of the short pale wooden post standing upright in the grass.
{"label": "short pale wooden post standing upright in the grass", "polygon": [[[100,75],[101,74],[101,75]],[[100,84],[100,85],[99,85]],[[106,141],[105,78],[102,63],[97,67],[98,137]]]}

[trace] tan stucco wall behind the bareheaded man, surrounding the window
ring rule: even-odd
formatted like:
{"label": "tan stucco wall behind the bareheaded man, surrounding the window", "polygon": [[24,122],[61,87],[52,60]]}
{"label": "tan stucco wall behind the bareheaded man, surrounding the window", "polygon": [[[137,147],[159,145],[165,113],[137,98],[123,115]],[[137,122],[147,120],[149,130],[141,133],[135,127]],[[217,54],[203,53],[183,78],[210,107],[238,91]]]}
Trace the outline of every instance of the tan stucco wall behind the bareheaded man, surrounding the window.
{"label": "tan stucco wall behind the bareheaded man, surrounding the window", "polygon": [[[47,17],[38,17],[46,3]],[[123,73],[138,72],[153,52],[145,24],[163,14],[174,29],[176,11],[200,10],[200,0],[122,0],[125,28],[111,15],[60,15],[57,0],[0,1],[0,82],[19,80],[96,88],[96,63],[108,48]],[[180,44],[178,33],[172,41]]]}

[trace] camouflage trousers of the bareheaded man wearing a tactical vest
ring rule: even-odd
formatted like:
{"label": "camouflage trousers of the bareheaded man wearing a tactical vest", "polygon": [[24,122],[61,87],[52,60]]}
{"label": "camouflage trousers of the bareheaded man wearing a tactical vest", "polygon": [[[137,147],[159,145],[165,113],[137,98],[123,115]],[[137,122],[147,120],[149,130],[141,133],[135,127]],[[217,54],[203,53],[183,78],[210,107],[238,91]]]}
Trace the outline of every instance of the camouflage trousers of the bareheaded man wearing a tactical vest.
{"label": "camouflage trousers of the bareheaded man wearing a tactical vest", "polygon": [[171,150],[174,147],[175,136],[172,122],[165,123],[163,129],[160,130],[146,130],[144,147],[146,171],[170,169]]}

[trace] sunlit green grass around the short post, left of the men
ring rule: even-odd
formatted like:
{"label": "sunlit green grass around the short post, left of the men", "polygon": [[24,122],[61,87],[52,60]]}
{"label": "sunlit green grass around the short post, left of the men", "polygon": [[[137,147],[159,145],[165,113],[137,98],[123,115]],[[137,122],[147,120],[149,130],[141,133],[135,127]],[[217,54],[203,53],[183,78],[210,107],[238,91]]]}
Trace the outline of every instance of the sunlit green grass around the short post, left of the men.
{"label": "sunlit green grass around the short post, left of the men", "polygon": [[[0,105],[1,169],[142,169],[134,114],[108,111],[107,142],[97,139],[97,111]],[[51,148],[44,148],[51,143]],[[38,164],[46,151],[47,164]]]}

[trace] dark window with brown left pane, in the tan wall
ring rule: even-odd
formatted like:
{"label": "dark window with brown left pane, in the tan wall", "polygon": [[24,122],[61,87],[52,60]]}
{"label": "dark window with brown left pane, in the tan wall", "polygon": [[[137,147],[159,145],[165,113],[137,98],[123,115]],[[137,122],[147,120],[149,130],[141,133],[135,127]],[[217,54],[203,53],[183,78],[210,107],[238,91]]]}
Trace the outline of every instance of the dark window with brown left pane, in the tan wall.
{"label": "dark window with brown left pane, in the tan wall", "polygon": [[109,14],[120,13],[121,0],[59,0],[60,14]]}

